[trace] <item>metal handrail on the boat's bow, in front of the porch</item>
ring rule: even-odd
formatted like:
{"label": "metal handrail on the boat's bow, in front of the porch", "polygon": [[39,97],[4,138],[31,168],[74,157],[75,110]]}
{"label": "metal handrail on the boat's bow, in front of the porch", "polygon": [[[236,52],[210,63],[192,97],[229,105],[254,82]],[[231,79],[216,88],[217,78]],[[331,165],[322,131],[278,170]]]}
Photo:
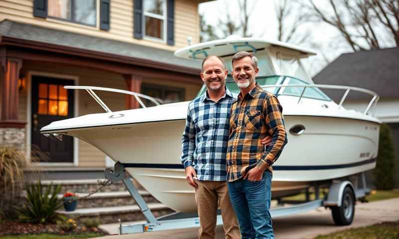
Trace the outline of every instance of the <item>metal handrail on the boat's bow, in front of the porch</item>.
{"label": "metal handrail on the boat's bow, in front of the porch", "polygon": [[122,93],[127,95],[132,95],[134,98],[139,102],[140,106],[143,108],[147,108],[146,105],[140,98],[144,98],[150,100],[155,105],[159,106],[162,104],[161,99],[153,98],[151,96],[143,95],[133,91],[125,91],[120,89],[113,89],[113,88],[106,88],[106,87],[97,87],[97,86],[64,86],[65,89],[75,89],[75,90],[86,90],[91,97],[105,110],[107,113],[112,113],[112,111],[107,107],[107,105],[94,93],[94,91],[109,91],[109,92],[116,92]]}

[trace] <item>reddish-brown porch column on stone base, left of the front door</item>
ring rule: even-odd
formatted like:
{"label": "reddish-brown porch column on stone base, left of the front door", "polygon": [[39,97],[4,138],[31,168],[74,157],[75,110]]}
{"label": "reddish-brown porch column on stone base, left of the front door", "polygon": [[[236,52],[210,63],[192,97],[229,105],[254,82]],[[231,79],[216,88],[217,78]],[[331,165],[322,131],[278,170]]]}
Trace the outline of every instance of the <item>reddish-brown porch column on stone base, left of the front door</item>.
{"label": "reddish-brown porch column on stone base, left of the front door", "polygon": [[21,59],[1,59],[0,144],[24,148],[26,122],[18,119],[18,79],[21,67]]}

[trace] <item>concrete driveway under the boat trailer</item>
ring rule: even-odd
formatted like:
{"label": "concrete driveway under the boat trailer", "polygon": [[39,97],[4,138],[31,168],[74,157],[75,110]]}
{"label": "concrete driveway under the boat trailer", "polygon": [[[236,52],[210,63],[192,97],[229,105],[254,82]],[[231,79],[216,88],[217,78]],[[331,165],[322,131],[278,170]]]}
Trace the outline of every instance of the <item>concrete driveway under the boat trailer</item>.
{"label": "concrete driveway under the boat trailer", "polygon": [[[358,203],[352,225],[340,227],[333,222],[331,211],[324,208],[273,220],[277,239],[312,239],[318,235],[329,234],[349,228],[359,228],[387,221],[399,220],[399,198],[373,203]],[[117,232],[118,224],[104,225],[104,229]],[[111,232],[112,233],[112,232]],[[131,235],[105,236],[101,239],[197,239],[198,228],[150,232]],[[216,238],[223,238],[223,228],[218,226]]]}

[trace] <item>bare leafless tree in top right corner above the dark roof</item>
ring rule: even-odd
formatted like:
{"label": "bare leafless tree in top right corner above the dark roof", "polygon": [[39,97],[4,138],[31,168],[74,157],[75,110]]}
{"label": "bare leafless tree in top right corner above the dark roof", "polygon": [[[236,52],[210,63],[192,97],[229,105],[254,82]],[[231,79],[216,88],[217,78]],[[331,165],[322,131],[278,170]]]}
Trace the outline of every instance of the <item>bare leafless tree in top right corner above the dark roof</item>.
{"label": "bare leafless tree in top right corner above the dark roof", "polygon": [[335,27],[353,51],[399,45],[398,0],[328,0],[328,9],[307,1],[311,19]]}

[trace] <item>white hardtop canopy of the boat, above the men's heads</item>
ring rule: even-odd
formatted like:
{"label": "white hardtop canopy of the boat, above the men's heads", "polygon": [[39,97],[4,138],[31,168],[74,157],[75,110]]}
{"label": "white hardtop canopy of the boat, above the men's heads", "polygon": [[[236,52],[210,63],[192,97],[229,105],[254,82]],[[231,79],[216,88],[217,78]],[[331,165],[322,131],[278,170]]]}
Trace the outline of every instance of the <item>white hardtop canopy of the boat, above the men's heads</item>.
{"label": "white hardtop canopy of the boat, above the men's heads", "polygon": [[301,60],[316,53],[281,41],[232,35],[226,39],[182,48],[175,52],[175,56],[191,59],[219,56],[223,58],[227,71],[231,73],[232,56],[239,51],[251,52],[258,58],[258,76],[260,77],[291,76],[310,84],[313,83]]}

